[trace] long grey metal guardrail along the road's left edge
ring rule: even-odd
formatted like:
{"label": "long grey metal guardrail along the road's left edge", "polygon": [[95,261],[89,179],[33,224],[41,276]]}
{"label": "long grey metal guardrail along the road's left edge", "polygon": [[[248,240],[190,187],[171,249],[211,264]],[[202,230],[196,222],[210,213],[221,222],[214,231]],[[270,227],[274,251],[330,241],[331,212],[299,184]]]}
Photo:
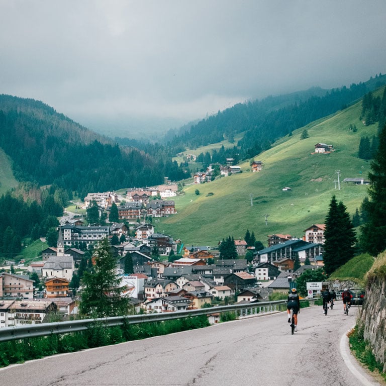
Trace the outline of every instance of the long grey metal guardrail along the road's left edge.
{"label": "long grey metal guardrail along the road's left edge", "polygon": [[[165,320],[181,319],[201,315],[211,315],[224,312],[238,312],[239,317],[262,314],[273,311],[280,311],[279,306],[285,305],[285,300],[274,302],[236,304],[229,306],[218,306],[210,308],[201,308],[198,310],[175,311],[168,313],[142,314],[115,316],[99,319],[81,319],[65,322],[41,323],[19,327],[0,328],[0,342],[11,340],[36,338],[41,336],[50,336],[53,334],[68,334],[72,332],[87,330],[95,324],[102,324],[106,327],[121,326],[123,324],[138,324],[148,322],[161,322]],[[283,310],[283,308],[281,308]]]}

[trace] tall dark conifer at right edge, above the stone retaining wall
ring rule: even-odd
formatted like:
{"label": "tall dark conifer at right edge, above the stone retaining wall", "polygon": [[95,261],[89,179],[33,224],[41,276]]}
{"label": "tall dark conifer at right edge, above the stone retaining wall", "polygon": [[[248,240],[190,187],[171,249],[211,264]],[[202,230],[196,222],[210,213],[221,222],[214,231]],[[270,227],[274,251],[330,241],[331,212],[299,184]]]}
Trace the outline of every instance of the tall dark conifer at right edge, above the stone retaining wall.
{"label": "tall dark conifer at right edge, above the stone retaining wall", "polygon": [[379,133],[378,149],[370,168],[370,200],[363,201],[367,222],[361,227],[360,246],[376,256],[386,249],[386,125]]}

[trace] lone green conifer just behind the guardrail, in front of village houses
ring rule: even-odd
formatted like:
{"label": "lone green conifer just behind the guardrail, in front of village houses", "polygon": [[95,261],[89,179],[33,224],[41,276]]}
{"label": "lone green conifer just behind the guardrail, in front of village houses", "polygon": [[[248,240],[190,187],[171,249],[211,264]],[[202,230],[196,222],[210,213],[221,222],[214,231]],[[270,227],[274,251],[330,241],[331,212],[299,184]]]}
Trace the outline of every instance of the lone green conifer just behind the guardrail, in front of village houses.
{"label": "lone green conifer just behind the guardrail, in front of village houses", "polygon": [[94,318],[126,315],[128,299],[121,296],[121,277],[116,273],[117,261],[108,238],[94,250],[93,257],[92,272],[85,271],[82,278],[80,314]]}

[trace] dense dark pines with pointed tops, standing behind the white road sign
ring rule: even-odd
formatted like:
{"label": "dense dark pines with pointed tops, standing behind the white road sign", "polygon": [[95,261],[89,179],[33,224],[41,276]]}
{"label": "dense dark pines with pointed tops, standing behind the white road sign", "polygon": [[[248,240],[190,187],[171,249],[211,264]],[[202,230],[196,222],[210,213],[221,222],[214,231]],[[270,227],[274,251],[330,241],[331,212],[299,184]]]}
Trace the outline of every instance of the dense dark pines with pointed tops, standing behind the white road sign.
{"label": "dense dark pines with pointed tops, standing behind the white road sign", "polygon": [[342,201],[332,196],[325,221],[324,269],[328,275],[354,256],[355,231]]}

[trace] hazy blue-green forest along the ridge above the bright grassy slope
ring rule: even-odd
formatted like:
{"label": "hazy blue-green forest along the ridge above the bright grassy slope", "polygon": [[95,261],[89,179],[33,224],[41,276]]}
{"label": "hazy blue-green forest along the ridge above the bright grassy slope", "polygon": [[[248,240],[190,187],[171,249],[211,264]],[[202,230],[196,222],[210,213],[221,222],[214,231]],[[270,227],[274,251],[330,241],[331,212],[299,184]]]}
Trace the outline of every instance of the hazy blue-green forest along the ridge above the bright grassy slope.
{"label": "hazy blue-green forest along the ridge above the bright grassy slope", "polygon": [[[195,149],[199,146],[229,139],[243,133],[237,147],[240,159],[255,156],[285,135],[308,123],[335,113],[361,98],[366,92],[385,83],[386,76],[379,74],[365,83],[352,84],[325,91],[314,89],[314,94],[297,93],[266,98],[262,101],[237,104],[192,125],[184,133],[175,135],[170,146]],[[169,134],[170,137],[170,134]]]}

